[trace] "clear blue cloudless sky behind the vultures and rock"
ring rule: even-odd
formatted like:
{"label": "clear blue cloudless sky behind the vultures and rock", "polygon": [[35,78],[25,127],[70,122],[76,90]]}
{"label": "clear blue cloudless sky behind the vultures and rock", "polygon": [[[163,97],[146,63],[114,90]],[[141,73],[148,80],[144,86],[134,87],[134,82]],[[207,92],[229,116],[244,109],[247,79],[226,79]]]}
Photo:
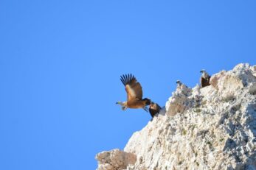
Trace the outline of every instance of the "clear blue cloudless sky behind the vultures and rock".
{"label": "clear blue cloudless sky behind the vultures and rock", "polygon": [[256,64],[255,1],[0,1],[0,169],[95,169],[151,116],[120,109],[120,75],[165,105],[176,79],[193,87]]}

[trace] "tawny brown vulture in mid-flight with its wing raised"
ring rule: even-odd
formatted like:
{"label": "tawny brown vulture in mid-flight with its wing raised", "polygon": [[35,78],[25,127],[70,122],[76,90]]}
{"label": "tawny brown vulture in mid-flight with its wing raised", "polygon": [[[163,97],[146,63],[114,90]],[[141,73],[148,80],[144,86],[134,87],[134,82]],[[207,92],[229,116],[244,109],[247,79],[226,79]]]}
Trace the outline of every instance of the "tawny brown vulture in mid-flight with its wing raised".
{"label": "tawny brown vulture in mid-flight with its wing raised", "polygon": [[151,104],[151,100],[148,98],[142,99],[142,86],[137,82],[136,78],[132,74],[125,74],[121,76],[121,82],[125,85],[127,93],[126,102],[117,102],[117,104],[122,106],[122,110],[127,108],[143,108],[148,112],[147,105]]}

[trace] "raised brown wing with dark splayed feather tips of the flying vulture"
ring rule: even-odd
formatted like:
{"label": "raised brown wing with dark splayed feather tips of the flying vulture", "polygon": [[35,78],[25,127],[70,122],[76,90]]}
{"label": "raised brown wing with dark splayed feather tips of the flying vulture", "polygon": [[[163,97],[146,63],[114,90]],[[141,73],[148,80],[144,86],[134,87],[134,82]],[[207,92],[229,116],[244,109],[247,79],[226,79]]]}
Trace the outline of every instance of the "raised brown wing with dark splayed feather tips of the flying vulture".
{"label": "raised brown wing with dark splayed feather tips of the flying vulture", "polygon": [[127,93],[127,102],[142,99],[142,86],[137,82],[132,74],[125,74],[121,76],[122,84],[125,85]]}

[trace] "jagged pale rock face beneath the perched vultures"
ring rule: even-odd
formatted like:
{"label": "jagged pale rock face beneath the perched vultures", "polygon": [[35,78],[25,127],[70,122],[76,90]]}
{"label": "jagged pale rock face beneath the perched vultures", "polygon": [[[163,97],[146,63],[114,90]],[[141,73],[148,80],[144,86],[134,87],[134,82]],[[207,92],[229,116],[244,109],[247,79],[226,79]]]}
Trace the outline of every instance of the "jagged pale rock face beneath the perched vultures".
{"label": "jagged pale rock face beneath the perched vultures", "polygon": [[[177,88],[125,146],[134,162],[114,169],[256,169],[255,75],[255,66],[239,64],[205,88]],[[98,169],[106,164],[97,160]]]}

